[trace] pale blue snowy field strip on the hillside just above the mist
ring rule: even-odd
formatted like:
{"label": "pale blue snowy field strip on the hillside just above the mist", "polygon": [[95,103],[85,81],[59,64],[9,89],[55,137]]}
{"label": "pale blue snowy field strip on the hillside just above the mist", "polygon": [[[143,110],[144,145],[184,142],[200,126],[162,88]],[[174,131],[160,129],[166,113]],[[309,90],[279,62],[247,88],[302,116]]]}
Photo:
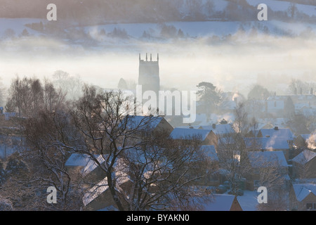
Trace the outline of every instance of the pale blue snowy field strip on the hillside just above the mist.
{"label": "pale blue snowy field strip on the hillside just above the mist", "polygon": [[[309,23],[286,23],[278,20],[268,20],[264,23],[258,21],[241,23],[238,21],[203,21],[203,22],[170,22],[166,25],[173,25],[177,30],[182,30],[184,34],[188,34],[190,37],[211,37],[216,35],[223,37],[228,34],[235,34],[240,25],[244,27],[246,31],[251,30],[253,26],[258,27],[266,26],[270,34],[274,34],[276,31],[293,32],[294,34],[301,34],[308,27],[316,33],[316,24]],[[109,24],[99,25],[92,27],[85,27],[86,32],[89,32],[91,36],[98,33],[97,31],[105,30],[105,32],[112,32],[114,28],[126,30],[126,32],[134,38],[139,38],[143,35],[143,32],[147,32],[152,37],[159,37],[161,27],[154,23],[129,23],[129,24]]]}

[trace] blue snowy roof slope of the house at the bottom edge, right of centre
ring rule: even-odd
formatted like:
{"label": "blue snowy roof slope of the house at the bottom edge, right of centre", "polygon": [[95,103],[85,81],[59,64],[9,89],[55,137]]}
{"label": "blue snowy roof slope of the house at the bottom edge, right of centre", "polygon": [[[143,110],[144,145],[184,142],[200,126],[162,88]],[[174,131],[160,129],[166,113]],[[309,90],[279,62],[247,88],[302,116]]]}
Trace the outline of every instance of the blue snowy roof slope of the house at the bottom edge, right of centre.
{"label": "blue snowy roof slope of the house at the bottom edge, right of centre", "polygon": [[205,211],[230,211],[235,195],[214,194],[211,202],[204,204]]}

